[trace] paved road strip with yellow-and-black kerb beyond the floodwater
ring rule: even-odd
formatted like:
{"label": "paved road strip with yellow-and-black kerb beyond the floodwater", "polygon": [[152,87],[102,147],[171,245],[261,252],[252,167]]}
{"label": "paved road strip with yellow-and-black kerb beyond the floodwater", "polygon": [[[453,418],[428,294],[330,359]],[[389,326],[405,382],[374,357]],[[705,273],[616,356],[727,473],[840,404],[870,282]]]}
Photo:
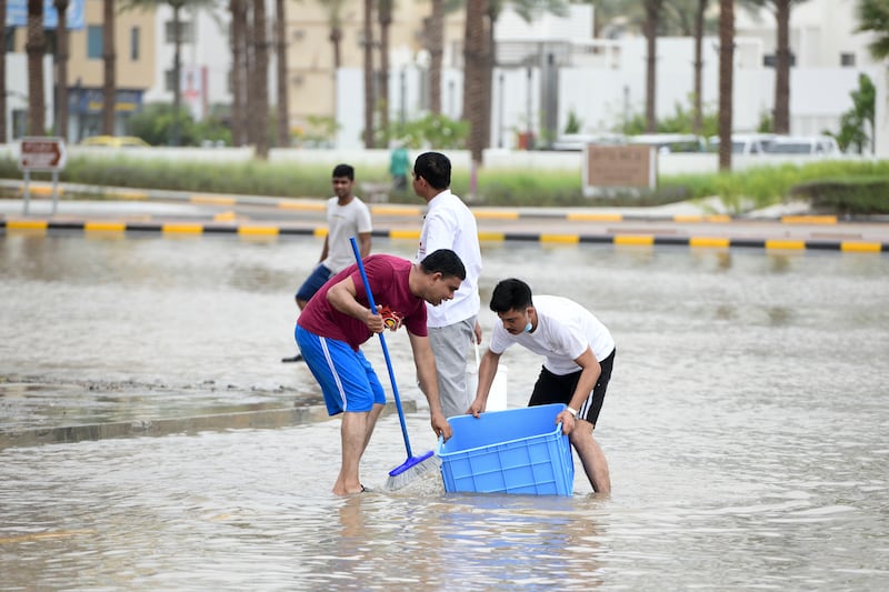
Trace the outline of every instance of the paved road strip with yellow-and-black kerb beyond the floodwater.
{"label": "paved road strip with yellow-and-black kerb beyond the floodwater", "polygon": [[[326,225],[319,199],[133,190],[111,194],[127,199],[62,199],[53,213],[51,198],[43,190],[30,200],[28,215],[22,200],[0,200],[0,227],[306,234]],[[487,240],[889,252],[889,218],[837,220],[811,215],[805,204],[745,217],[720,210],[716,199],[653,208],[473,208]],[[419,233],[424,208],[372,203],[371,211],[374,234],[411,237]]]}

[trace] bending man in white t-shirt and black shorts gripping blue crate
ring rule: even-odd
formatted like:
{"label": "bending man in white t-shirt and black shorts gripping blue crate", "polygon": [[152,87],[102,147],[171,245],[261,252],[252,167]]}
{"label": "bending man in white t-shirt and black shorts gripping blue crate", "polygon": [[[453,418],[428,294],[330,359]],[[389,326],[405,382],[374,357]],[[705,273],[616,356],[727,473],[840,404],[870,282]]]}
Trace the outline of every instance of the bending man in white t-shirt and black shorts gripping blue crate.
{"label": "bending man in white t-shirt and black shorts gripping blue crate", "polygon": [[546,357],[528,407],[563,403],[556,417],[575,446],[597,493],[611,492],[608,462],[592,437],[615,363],[615,340],[590,311],[562,297],[536,295],[515,278],[497,284],[491,310],[500,318],[481,359],[479,387],[470,408],[485,411],[500,355],[513,343]]}

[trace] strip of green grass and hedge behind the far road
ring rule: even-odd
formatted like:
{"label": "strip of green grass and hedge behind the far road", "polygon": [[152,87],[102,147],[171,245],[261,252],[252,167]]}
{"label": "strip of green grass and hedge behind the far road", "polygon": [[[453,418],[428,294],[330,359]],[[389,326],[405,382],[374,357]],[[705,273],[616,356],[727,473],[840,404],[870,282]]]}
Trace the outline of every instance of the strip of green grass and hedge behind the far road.
{"label": "strip of green grass and hedge behind the far road", "polygon": [[[362,167],[358,181],[388,182],[384,167]],[[14,160],[0,159],[0,178],[21,179]],[[34,180],[49,179],[36,173]],[[860,179],[861,181],[855,181]],[[506,207],[576,207],[576,205],[658,205],[696,198],[719,195],[723,207],[740,214],[781,203],[789,198],[812,195],[800,187],[820,187],[819,182],[846,183],[833,191],[835,198],[819,197],[819,208],[841,209],[841,213],[859,211],[886,212],[886,193],[875,182],[889,179],[889,161],[819,161],[805,165],[780,164],[745,171],[711,174],[661,175],[653,191],[625,192],[608,198],[585,198],[581,172],[528,169],[485,169],[478,171],[477,194],[472,202]],[[120,158],[109,160],[88,157],[71,158],[60,174],[62,182],[168,189],[242,195],[313,197],[331,194],[330,167],[293,162],[173,162]],[[455,169],[452,187],[460,195],[470,197],[469,171]],[[851,189],[855,187],[856,189]],[[866,192],[869,197],[863,197]],[[840,199],[842,193],[842,199]],[[360,194],[360,192],[359,192]],[[819,193],[821,195],[822,193]],[[849,195],[856,195],[850,198]],[[861,197],[858,197],[861,195]],[[100,195],[96,195],[100,197]],[[882,198],[882,199],[881,199]],[[390,201],[418,203],[410,189],[392,192]],[[845,201],[843,201],[845,200]],[[850,201],[851,200],[851,201]]]}

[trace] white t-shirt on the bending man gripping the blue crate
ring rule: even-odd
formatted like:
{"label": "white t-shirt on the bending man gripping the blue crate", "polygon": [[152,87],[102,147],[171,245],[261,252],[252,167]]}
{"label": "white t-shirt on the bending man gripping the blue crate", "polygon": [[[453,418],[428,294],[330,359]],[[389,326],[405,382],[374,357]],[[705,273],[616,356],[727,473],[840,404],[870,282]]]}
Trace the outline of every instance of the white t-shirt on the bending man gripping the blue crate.
{"label": "white t-shirt on the bending man gripping the blue crate", "polygon": [[543,368],[563,377],[580,370],[575,363],[589,345],[598,361],[615,350],[611,332],[590,311],[562,297],[532,297],[537,329],[531,333],[510,334],[498,322],[491,332],[491,352],[503,353],[513,343],[546,355]]}

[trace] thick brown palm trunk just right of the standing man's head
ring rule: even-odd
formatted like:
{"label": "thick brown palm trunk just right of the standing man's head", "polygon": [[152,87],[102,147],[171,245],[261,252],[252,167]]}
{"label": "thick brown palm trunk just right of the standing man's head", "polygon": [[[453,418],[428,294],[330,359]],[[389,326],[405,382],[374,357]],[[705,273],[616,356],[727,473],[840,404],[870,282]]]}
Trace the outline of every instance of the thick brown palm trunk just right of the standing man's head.
{"label": "thick brown palm trunk just right of the standing man's head", "polygon": [[485,150],[485,76],[488,72],[488,0],[467,0],[463,41],[463,114],[469,121],[469,152],[472,164],[482,163]]}

